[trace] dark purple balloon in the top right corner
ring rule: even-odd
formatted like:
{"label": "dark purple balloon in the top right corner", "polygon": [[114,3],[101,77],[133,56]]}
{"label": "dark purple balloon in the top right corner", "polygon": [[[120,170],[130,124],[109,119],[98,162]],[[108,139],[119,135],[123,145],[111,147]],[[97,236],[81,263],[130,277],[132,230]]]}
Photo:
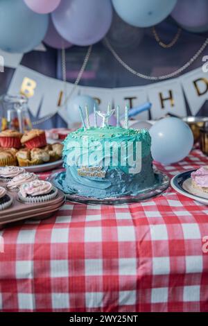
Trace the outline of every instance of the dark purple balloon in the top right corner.
{"label": "dark purple balloon in the top right corner", "polygon": [[171,16],[175,21],[187,28],[200,27],[208,24],[208,1],[207,0],[180,0],[177,1]]}

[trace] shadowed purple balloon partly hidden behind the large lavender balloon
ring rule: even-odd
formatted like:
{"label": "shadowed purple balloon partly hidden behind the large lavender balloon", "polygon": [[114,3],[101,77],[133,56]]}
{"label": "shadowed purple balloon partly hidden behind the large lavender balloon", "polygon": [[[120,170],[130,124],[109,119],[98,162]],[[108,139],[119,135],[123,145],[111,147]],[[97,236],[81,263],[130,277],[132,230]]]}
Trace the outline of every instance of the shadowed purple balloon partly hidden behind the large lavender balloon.
{"label": "shadowed purple balloon partly hidden behind the large lavender balloon", "polygon": [[55,26],[53,25],[51,18],[49,19],[49,28],[43,42],[54,49],[67,49],[73,45],[67,40],[64,40],[63,37],[59,35],[58,31],[56,31]]}

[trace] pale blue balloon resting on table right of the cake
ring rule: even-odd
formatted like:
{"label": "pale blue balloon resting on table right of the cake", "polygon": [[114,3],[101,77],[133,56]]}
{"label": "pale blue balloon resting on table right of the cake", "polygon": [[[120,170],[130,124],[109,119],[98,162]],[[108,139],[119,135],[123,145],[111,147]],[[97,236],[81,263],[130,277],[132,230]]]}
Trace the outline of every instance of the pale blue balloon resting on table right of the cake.
{"label": "pale blue balloon resting on table right of the cake", "polygon": [[153,159],[164,165],[179,162],[193,147],[191,128],[178,118],[164,118],[150,128]]}

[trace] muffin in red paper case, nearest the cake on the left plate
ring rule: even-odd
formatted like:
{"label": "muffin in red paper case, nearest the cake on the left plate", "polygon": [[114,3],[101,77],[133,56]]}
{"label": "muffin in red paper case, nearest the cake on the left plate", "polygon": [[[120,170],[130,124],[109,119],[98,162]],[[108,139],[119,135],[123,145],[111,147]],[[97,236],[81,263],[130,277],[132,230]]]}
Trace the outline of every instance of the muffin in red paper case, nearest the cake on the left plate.
{"label": "muffin in red paper case, nearest the cake on the left plate", "polygon": [[46,146],[46,134],[44,130],[29,130],[21,137],[21,144],[30,149]]}

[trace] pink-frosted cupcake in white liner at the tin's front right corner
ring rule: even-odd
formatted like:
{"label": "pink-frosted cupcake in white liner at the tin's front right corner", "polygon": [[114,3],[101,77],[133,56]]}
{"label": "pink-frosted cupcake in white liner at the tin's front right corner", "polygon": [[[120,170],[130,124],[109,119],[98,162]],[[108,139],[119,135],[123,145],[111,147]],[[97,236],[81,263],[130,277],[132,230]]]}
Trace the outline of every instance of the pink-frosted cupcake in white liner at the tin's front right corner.
{"label": "pink-frosted cupcake in white liner at the tin's front right corner", "polygon": [[35,180],[21,185],[18,197],[25,203],[42,203],[49,201],[58,194],[58,189],[51,182]]}

